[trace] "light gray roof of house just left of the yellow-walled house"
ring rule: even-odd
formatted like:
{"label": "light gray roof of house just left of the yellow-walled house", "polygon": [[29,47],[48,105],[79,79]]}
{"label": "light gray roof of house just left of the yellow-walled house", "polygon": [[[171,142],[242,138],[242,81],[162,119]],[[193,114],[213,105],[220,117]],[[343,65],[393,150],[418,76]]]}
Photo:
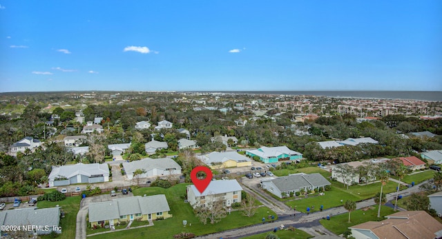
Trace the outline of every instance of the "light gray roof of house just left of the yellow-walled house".
{"label": "light gray roof of house just left of the yellow-walled house", "polygon": [[155,168],[164,170],[175,168],[181,170],[181,166],[171,158],[142,158],[130,163],[123,163],[123,167],[126,174],[131,174],[137,169],[144,169],[146,172]]}

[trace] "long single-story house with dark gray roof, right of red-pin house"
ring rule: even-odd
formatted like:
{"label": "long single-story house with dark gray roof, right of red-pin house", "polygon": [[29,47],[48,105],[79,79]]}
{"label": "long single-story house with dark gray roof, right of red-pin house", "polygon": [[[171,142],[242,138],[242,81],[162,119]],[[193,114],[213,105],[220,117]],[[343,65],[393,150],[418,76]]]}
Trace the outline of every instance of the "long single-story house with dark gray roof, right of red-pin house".
{"label": "long single-story house with dark gray roof, right of red-pin house", "polygon": [[314,189],[324,188],[331,185],[322,175],[316,174],[290,174],[280,178],[269,178],[261,180],[262,189],[266,189],[278,198],[290,196],[290,193],[296,194],[302,189],[313,191]]}

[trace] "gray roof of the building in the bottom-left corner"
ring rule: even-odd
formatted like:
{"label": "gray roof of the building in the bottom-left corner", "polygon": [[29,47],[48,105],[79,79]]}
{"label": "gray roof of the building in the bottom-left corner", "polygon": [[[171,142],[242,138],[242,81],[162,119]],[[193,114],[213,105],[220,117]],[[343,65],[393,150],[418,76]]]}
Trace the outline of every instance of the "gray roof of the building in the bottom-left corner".
{"label": "gray roof of the building in the bottom-left corner", "polygon": [[0,225],[58,226],[60,222],[59,215],[59,207],[44,209],[32,207],[0,211]]}

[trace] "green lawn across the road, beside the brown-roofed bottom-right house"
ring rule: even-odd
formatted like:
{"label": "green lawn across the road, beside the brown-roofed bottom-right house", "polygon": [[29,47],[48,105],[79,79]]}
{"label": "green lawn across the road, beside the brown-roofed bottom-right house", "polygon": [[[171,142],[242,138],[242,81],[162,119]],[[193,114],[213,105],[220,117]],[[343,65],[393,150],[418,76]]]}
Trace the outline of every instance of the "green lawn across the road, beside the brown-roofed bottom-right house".
{"label": "green lawn across the road, beside the brown-roofed bottom-right house", "polygon": [[348,213],[332,216],[330,220],[321,219],[319,222],[336,235],[340,235],[341,233],[344,233],[344,231],[347,231],[348,227],[352,227],[363,222],[383,220],[385,219],[384,216],[393,213],[394,211],[391,207],[382,206],[381,218],[378,218],[378,206],[373,206],[373,209],[369,209],[367,211],[352,211],[352,214],[350,215],[350,222],[348,222]]}

